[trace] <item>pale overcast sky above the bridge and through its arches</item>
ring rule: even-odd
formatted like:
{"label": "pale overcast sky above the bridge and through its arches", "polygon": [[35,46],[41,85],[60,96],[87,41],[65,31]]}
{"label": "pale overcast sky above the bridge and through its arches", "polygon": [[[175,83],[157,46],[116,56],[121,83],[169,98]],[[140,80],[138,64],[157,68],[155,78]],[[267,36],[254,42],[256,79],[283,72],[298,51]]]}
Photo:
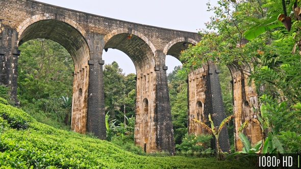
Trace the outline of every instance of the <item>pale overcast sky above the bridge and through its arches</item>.
{"label": "pale overcast sky above the bridge and through its arches", "polygon": [[[146,25],[165,27],[173,30],[197,32],[198,29],[205,29],[205,23],[210,20],[212,12],[207,11],[206,3],[209,0],[152,0],[152,1],[99,1],[99,0],[38,0],[39,2],[56,5],[100,16],[142,23]],[[217,0],[211,0],[215,5]],[[116,61],[119,67],[125,72],[135,73],[135,66],[131,59],[117,49],[109,49],[103,52],[105,63]],[[177,59],[167,56],[167,73],[171,72],[174,66],[181,65]]]}

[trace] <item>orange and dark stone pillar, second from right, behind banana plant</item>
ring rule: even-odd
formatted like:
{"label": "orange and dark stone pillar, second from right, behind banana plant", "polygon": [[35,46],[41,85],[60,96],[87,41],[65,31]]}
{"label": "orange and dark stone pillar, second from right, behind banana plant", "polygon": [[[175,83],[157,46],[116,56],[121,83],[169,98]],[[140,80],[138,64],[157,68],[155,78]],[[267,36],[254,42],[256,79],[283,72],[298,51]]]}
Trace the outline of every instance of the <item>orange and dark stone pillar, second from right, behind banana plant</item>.
{"label": "orange and dark stone pillar, second from right, behind banana plant", "polygon": [[[225,118],[218,73],[216,65],[209,64],[188,74],[188,134],[207,133],[193,119],[211,126],[209,121],[211,114],[214,125],[219,127]],[[219,134],[219,145],[223,152],[230,152],[229,135],[225,127]],[[216,149],[215,139],[212,139],[211,147]]]}

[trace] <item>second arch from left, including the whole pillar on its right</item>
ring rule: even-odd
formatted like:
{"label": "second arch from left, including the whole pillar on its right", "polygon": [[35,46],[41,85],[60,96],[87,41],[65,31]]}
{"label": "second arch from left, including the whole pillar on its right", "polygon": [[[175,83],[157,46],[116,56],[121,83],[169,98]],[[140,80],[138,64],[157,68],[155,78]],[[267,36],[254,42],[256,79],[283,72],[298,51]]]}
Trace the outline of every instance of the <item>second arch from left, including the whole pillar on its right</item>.
{"label": "second arch from left, including the whole pillar on its right", "polygon": [[[156,50],[146,36],[131,29],[119,29],[107,34],[104,37],[103,48],[105,51],[109,50],[108,48],[123,51],[131,58],[136,68],[135,145],[144,147],[145,152],[164,150],[173,154],[167,78],[165,67],[161,64],[165,54]],[[164,123],[158,120],[163,117],[166,118]]]}

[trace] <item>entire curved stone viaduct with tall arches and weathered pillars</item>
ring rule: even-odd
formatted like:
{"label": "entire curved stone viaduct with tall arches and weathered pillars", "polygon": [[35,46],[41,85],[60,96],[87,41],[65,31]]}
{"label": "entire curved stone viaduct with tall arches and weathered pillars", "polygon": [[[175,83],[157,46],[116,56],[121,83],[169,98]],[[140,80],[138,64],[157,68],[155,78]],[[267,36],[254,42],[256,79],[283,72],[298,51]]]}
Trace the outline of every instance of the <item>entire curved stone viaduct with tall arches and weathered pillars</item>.
{"label": "entire curved stone viaduct with tall arches and weathered pillars", "polygon": [[[166,55],[179,58],[180,51],[200,40],[196,33],[163,29],[32,0],[0,1],[0,84],[10,87],[11,99],[17,97],[18,46],[37,39],[51,39],[70,53],[74,63],[71,129],[106,137],[102,53],[116,48],[133,61],[137,74],[135,144],[147,152],[174,153],[174,140],[165,66]],[[234,89],[236,129],[246,117],[252,117],[256,104],[253,88],[245,76],[231,69]],[[219,124],[224,118],[219,71],[206,65],[189,74],[189,132],[198,132],[191,119],[206,122],[208,114]],[[207,122],[208,123],[208,122]],[[246,131],[249,137],[252,131]],[[221,146],[229,150],[227,131]],[[227,136],[227,137],[226,137]],[[222,139],[222,138],[221,138]],[[237,148],[241,145],[237,140]],[[253,138],[252,138],[253,140]],[[254,139],[255,140],[255,139]]]}

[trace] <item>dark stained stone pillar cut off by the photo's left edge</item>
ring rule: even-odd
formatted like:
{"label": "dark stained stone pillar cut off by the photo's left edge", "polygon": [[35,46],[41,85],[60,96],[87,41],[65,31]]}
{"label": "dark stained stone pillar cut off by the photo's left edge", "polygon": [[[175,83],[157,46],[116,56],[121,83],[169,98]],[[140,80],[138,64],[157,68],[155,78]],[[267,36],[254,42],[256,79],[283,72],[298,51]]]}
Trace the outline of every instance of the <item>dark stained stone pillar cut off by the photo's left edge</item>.
{"label": "dark stained stone pillar cut off by the photo's left edge", "polygon": [[10,99],[19,105],[17,100],[17,64],[20,50],[18,50],[18,33],[8,27],[0,25],[0,85],[10,88]]}

